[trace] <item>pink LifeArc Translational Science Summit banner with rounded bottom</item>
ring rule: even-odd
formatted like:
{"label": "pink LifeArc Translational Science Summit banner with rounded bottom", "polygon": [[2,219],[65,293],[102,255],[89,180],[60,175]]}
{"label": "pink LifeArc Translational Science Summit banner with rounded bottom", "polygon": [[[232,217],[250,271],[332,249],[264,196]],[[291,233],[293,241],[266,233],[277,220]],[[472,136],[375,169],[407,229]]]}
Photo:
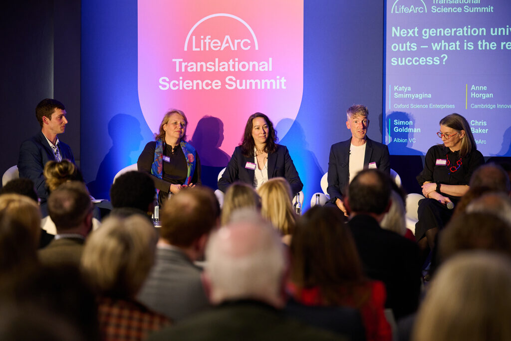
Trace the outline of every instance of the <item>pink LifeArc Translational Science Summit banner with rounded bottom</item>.
{"label": "pink LifeArc Translational Science Summit banner with rounded bottom", "polygon": [[217,118],[226,132],[218,147],[230,155],[252,113],[294,120],[303,36],[303,1],[138,1],[138,97],[148,126],[156,132],[177,108],[192,137],[201,118]]}

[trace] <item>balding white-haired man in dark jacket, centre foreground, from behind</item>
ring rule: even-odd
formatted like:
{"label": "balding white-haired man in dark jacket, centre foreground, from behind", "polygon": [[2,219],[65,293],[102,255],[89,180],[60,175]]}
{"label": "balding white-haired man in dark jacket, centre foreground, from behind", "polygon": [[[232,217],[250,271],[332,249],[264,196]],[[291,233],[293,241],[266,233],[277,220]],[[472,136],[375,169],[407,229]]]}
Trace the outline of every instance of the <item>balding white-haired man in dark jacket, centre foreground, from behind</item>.
{"label": "balding white-haired man in dark jacket, centre foreground, from behind", "polygon": [[150,340],[340,338],[289,320],[279,311],[285,302],[283,247],[273,226],[258,213],[236,212],[206,249],[204,277],[216,307],[154,333]]}

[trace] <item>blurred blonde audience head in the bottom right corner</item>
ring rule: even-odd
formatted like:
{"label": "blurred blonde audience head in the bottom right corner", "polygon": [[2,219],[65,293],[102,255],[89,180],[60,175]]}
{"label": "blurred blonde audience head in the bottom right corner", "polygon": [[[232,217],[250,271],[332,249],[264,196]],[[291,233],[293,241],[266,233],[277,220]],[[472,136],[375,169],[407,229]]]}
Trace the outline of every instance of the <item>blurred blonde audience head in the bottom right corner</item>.
{"label": "blurred blonde audience head in the bottom right corner", "polygon": [[414,341],[511,339],[511,263],[484,252],[440,267],[423,301]]}

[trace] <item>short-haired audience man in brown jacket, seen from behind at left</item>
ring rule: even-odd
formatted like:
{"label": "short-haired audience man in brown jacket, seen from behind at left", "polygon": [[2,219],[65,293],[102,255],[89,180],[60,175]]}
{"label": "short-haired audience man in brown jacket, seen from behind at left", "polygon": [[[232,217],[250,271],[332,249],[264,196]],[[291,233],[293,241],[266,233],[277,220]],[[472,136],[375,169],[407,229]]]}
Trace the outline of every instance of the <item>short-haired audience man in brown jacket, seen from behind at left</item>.
{"label": "short-haired audience man in brown jacket, seen from behind at left", "polygon": [[44,265],[78,266],[85,238],[92,229],[92,202],[85,185],[79,181],[60,185],[48,198],[48,211],[57,235],[39,250],[39,260]]}

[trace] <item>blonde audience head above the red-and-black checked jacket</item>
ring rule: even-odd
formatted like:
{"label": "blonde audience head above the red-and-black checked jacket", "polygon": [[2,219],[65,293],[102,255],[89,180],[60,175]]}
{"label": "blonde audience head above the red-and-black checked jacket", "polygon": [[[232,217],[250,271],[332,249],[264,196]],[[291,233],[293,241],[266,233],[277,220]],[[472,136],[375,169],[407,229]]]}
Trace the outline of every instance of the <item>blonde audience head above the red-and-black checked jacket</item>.
{"label": "blonde audience head above the red-and-black checked jacket", "polygon": [[85,243],[82,270],[100,295],[133,299],[154,262],[156,231],[142,215],[107,217]]}

